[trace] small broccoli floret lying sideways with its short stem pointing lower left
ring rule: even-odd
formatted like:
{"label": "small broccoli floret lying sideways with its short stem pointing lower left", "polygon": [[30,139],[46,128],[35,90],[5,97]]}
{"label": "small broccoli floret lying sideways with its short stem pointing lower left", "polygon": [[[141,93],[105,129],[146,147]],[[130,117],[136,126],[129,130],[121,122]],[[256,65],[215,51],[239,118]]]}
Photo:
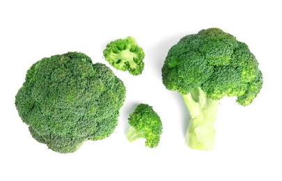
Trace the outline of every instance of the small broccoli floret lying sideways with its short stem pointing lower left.
{"label": "small broccoli floret lying sideways with its short stem pointing lower left", "polygon": [[133,113],[130,113],[127,139],[131,143],[136,139],[146,139],[145,145],[155,148],[159,144],[162,134],[162,121],[157,113],[148,104],[139,104]]}

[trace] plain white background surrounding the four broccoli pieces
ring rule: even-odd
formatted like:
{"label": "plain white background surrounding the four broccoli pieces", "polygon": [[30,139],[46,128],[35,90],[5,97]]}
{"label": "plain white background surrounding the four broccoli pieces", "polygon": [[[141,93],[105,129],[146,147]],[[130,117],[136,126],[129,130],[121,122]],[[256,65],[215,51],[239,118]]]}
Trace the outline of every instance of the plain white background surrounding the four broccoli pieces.
{"label": "plain white background surrounding the four broccoli pieces", "polygon": [[[279,1],[0,1],[0,180],[282,180],[281,3]],[[182,36],[218,27],[249,45],[263,72],[248,107],[224,97],[212,151],[185,145],[189,113],[162,84],[169,48]],[[113,70],[127,88],[115,132],[59,154],[32,139],[15,109],[26,71],[43,57],[102,56],[107,43],[132,36],[146,52],[143,74]],[[129,143],[129,113],[139,103],[163,122],[159,146]]]}

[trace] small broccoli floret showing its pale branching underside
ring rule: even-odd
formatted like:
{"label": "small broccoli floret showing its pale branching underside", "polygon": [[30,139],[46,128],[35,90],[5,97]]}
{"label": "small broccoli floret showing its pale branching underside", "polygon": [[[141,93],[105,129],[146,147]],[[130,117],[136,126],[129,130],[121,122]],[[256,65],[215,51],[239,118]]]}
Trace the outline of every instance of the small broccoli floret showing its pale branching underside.
{"label": "small broccoli floret showing its pale branching underside", "polygon": [[110,42],[103,54],[113,68],[128,70],[133,75],[139,75],[143,71],[145,54],[136,44],[135,39],[130,36]]}

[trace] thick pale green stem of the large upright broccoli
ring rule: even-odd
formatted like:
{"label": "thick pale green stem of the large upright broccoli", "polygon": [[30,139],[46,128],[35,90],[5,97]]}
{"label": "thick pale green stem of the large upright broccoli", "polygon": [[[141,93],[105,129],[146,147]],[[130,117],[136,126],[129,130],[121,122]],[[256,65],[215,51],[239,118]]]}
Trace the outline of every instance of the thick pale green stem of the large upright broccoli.
{"label": "thick pale green stem of the large upright broccoli", "polygon": [[198,150],[212,150],[219,100],[211,100],[201,88],[194,88],[182,98],[190,113],[186,145]]}

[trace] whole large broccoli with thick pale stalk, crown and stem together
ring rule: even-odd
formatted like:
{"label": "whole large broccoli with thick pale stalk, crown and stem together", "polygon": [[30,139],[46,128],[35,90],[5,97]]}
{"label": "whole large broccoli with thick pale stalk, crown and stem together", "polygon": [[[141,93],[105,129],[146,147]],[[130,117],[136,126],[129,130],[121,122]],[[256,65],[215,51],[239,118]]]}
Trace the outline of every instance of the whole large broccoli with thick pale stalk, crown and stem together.
{"label": "whole large broccoli with thick pale stalk, crown and stem together", "polygon": [[182,95],[189,110],[185,143],[212,150],[219,100],[227,95],[237,97],[242,106],[251,104],[263,86],[263,74],[244,42],[212,28],[185,36],[169,49],[162,81],[167,89]]}

